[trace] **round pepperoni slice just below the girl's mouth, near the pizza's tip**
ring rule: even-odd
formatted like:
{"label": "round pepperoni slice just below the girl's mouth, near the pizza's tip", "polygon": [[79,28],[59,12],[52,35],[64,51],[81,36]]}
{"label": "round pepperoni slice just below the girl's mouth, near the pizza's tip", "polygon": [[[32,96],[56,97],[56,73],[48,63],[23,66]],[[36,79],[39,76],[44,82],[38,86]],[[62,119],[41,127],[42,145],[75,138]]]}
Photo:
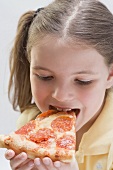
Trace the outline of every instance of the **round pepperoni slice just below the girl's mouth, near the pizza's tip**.
{"label": "round pepperoni slice just below the girl's mouth, near the pizza's tip", "polygon": [[68,116],[59,116],[51,122],[53,130],[58,132],[70,131],[73,126],[73,118]]}

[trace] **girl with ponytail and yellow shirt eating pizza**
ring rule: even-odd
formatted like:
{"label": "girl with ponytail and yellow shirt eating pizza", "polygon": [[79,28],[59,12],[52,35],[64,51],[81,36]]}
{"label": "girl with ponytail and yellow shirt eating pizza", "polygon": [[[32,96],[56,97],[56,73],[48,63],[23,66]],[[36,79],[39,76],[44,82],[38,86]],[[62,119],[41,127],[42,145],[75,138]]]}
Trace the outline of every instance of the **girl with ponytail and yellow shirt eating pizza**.
{"label": "girl with ponytail and yellow shirt eating pizza", "polygon": [[[19,20],[9,96],[18,128],[51,106],[77,110],[75,160],[6,152],[13,170],[113,169],[113,15],[98,0],[55,0]],[[13,95],[12,90],[13,89]],[[34,102],[33,102],[34,101]]]}

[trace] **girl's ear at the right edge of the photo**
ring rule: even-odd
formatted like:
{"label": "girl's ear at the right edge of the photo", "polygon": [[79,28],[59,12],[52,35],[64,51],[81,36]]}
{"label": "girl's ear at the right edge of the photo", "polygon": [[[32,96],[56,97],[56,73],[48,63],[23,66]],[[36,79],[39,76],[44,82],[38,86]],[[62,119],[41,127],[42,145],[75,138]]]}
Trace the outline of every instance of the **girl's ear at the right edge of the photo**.
{"label": "girl's ear at the right edge of the photo", "polygon": [[113,87],[113,64],[109,67],[109,75],[107,79],[107,89]]}

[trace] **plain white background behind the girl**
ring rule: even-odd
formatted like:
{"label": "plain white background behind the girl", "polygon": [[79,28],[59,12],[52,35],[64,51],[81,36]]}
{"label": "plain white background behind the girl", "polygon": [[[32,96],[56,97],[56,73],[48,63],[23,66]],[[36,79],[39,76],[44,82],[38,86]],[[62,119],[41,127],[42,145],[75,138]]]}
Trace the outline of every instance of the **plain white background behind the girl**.
{"label": "plain white background behind the girl", "polygon": [[[0,0],[0,134],[8,134],[16,128],[18,112],[13,111],[8,100],[9,52],[16,33],[17,22],[27,10],[36,10],[52,0]],[[101,0],[113,11],[113,0]],[[10,170],[4,158],[6,149],[0,149],[0,169]]]}

